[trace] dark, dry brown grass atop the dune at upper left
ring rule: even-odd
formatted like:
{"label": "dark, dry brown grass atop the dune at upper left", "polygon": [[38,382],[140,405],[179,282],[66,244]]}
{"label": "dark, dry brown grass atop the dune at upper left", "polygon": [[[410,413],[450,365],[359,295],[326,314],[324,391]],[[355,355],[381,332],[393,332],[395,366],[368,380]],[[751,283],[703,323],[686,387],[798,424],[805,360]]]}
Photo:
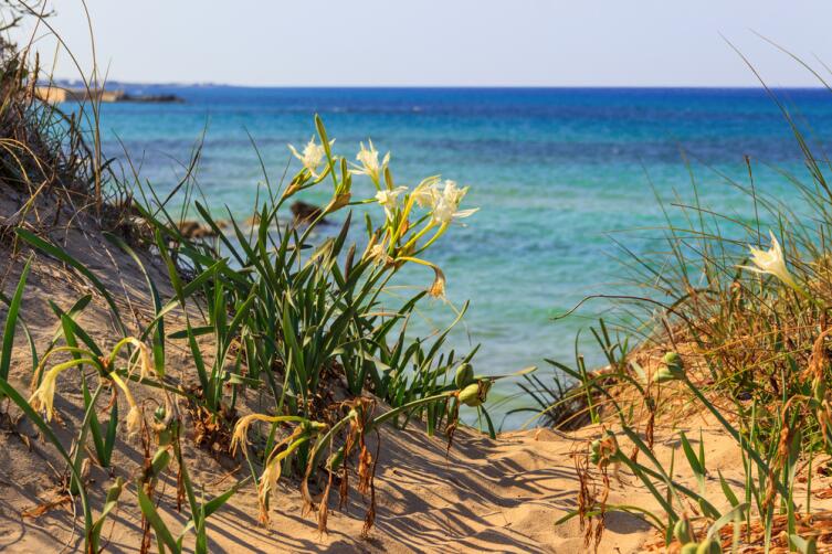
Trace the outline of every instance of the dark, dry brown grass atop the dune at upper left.
{"label": "dark, dry brown grass atop the dune at upper left", "polygon": [[[45,10],[45,2],[3,0],[0,28],[9,31],[31,20],[34,29],[54,32]],[[140,241],[143,230],[131,217],[131,191],[112,172],[113,160],[102,157],[98,100],[72,111],[41,102],[39,86],[51,86],[52,81],[32,47],[31,42],[19,47],[0,39],[0,181],[3,199],[13,205],[0,219],[0,238],[14,256],[19,227],[39,234],[107,228],[130,243]],[[93,75],[82,75],[87,89],[103,86],[97,73]],[[0,284],[6,279],[7,275],[0,277]]]}

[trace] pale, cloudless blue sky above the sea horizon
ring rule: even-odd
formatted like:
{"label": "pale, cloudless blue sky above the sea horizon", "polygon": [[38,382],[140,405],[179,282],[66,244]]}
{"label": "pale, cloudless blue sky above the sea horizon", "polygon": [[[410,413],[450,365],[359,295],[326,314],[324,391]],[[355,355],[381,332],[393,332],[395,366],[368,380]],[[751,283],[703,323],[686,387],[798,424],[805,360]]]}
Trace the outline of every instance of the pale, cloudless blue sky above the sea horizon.
{"label": "pale, cloudless blue sky above the sea horizon", "polygon": [[[98,62],[133,82],[241,85],[756,85],[832,65],[830,0],[88,0]],[[89,67],[80,0],[52,23]],[[42,33],[40,33],[42,34]],[[18,35],[20,40],[23,34]],[[39,41],[42,60],[54,46]],[[824,70],[825,71],[825,70]],[[59,77],[76,72],[65,56]]]}

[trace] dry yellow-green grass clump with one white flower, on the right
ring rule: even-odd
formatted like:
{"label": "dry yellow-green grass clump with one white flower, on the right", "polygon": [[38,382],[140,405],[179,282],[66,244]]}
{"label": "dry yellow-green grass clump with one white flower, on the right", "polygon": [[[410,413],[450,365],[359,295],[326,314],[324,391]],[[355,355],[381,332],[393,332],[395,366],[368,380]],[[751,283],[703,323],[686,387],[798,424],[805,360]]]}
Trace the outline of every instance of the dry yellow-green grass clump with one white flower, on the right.
{"label": "dry yellow-green grass clump with one white flower, on the right", "polygon": [[[800,523],[794,497],[798,468],[811,468],[815,457],[832,454],[828,391],[832,188],[828,161],[813,153],[817,147],[772,98],[782,108],[808,170],[808,183],[783,173],[801,202],[787,204],[760,194],[748,159],[747,183],[726,179],[747,194],[756,214],[752,220],[708,210],[698,202],[695,189],[693,203],[677,200],[676,212],[667,215],[665,248],[635,255],[623,247],[626,267],[647,290],[643,299],[626,297],[626,313],[643,308],[649,317],[640,327],[620,328],[621,339],[615,340],[609,339],[602,323],[596,337],[609,361],[605,371],[588,373],[579,356],[576,367],[552,362],[572,379],[572,388],[551,391],[541,382],[530,383],[540,394],[536,409],[550,414],[551,423],[560,424],[562,406],[582,397],[572,417],[620,429],[599,437],[586,456],[598,468],[625,467],[660,507],[659,512],[646,513],[642,508],[607,504],[603,494],[592,500],[584,493],[583,504],[569,516],[639,512],[661,531],[665,545],[705,544],[702,547],[712,548],[708,552],[737,551],[743,541],[750,541],[755,526],[762,530],[761,543],[768,550],[778,528],[775,522],[784,521],[788,547],[814,552],[818,534],[801,536],[805,525]],[[628,337],[642,340],[641,345],[629,349]],[[655,358],[656,351],[666,355],[652,370],[638,363]],[[733,507],[725,513],[708,500],[713,492],[704,487],[704,451],[695,452],[684,434],[680,434],[682,451],[698,490],[674,481],[673,467],[663,467],[653,455],[653,422],[664,417],[678,423],[671,413],[677,406],[708,412],[740,451],[745,489],[735,492],[720,476],[717,496]],[[622,437],[634,445],[632,452],[619,446]],[[587,475],[584,481],[590,480]],[[811,475],[807,477],[811,490]],[[803,510],[811,513],[809,496]],[[733,532],[719,539],[719,529],[726,525]]]}

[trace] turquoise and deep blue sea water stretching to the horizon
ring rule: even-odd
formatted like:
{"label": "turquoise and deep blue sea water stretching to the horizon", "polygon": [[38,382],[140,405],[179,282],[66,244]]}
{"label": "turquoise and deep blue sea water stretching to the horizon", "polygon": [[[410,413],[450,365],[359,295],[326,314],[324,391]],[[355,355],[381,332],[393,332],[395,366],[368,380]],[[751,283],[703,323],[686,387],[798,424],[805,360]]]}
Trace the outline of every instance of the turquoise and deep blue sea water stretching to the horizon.
{"label": "turquoise and deep blue sea water stretching to the horizon", "polygon": [[[682,150],[703,203],[746,216],[750,203],[716,171],[745,182],[743,157],[749,155],[758,164],[804,172],[782,115],[759,89],[131,92],[172,92],[187,102],[105,105],[106,152],[122,156],[118,137],[144,178],[164,192],[182,174],[180,163],[204,130],[197,178],[217,212],[228,205],[236,216],[250,215],[262,174],[246,132],[277,181],[289,160],[286,143],[308,140],[315,113],[337,138],[336,150],[350,159],[367,137],[379,150],[391,150],[401,183],[442,173],[471,185],[465,204],[481,211],[441,241],[430,259],[444,269],[453,305],[471,299],[466,328],[454,344],[464,350],[482,342],[476,366],[492,374],[540,365],[544,358],[572,359],[576,332],[610,303],[598,300],[576,316],[551,318],[622,281],[608,233],[663,224],[651,183],[665,199],[674,188],[689,195]],[[829,93],[778,94],[820,138],[832,130]],[[793,194],[771,169],[758,167],[756,181],[780,198]],[[358,183],[357,191],[372,194],[369,182]],[[638,241],[631,246],[647,247]],[[431,275],[417,269],[406,278],[428,285]],[[440,326],[451,316],[434,301],[422,324]],[[600,362],[593,352],[588,359]]]}

